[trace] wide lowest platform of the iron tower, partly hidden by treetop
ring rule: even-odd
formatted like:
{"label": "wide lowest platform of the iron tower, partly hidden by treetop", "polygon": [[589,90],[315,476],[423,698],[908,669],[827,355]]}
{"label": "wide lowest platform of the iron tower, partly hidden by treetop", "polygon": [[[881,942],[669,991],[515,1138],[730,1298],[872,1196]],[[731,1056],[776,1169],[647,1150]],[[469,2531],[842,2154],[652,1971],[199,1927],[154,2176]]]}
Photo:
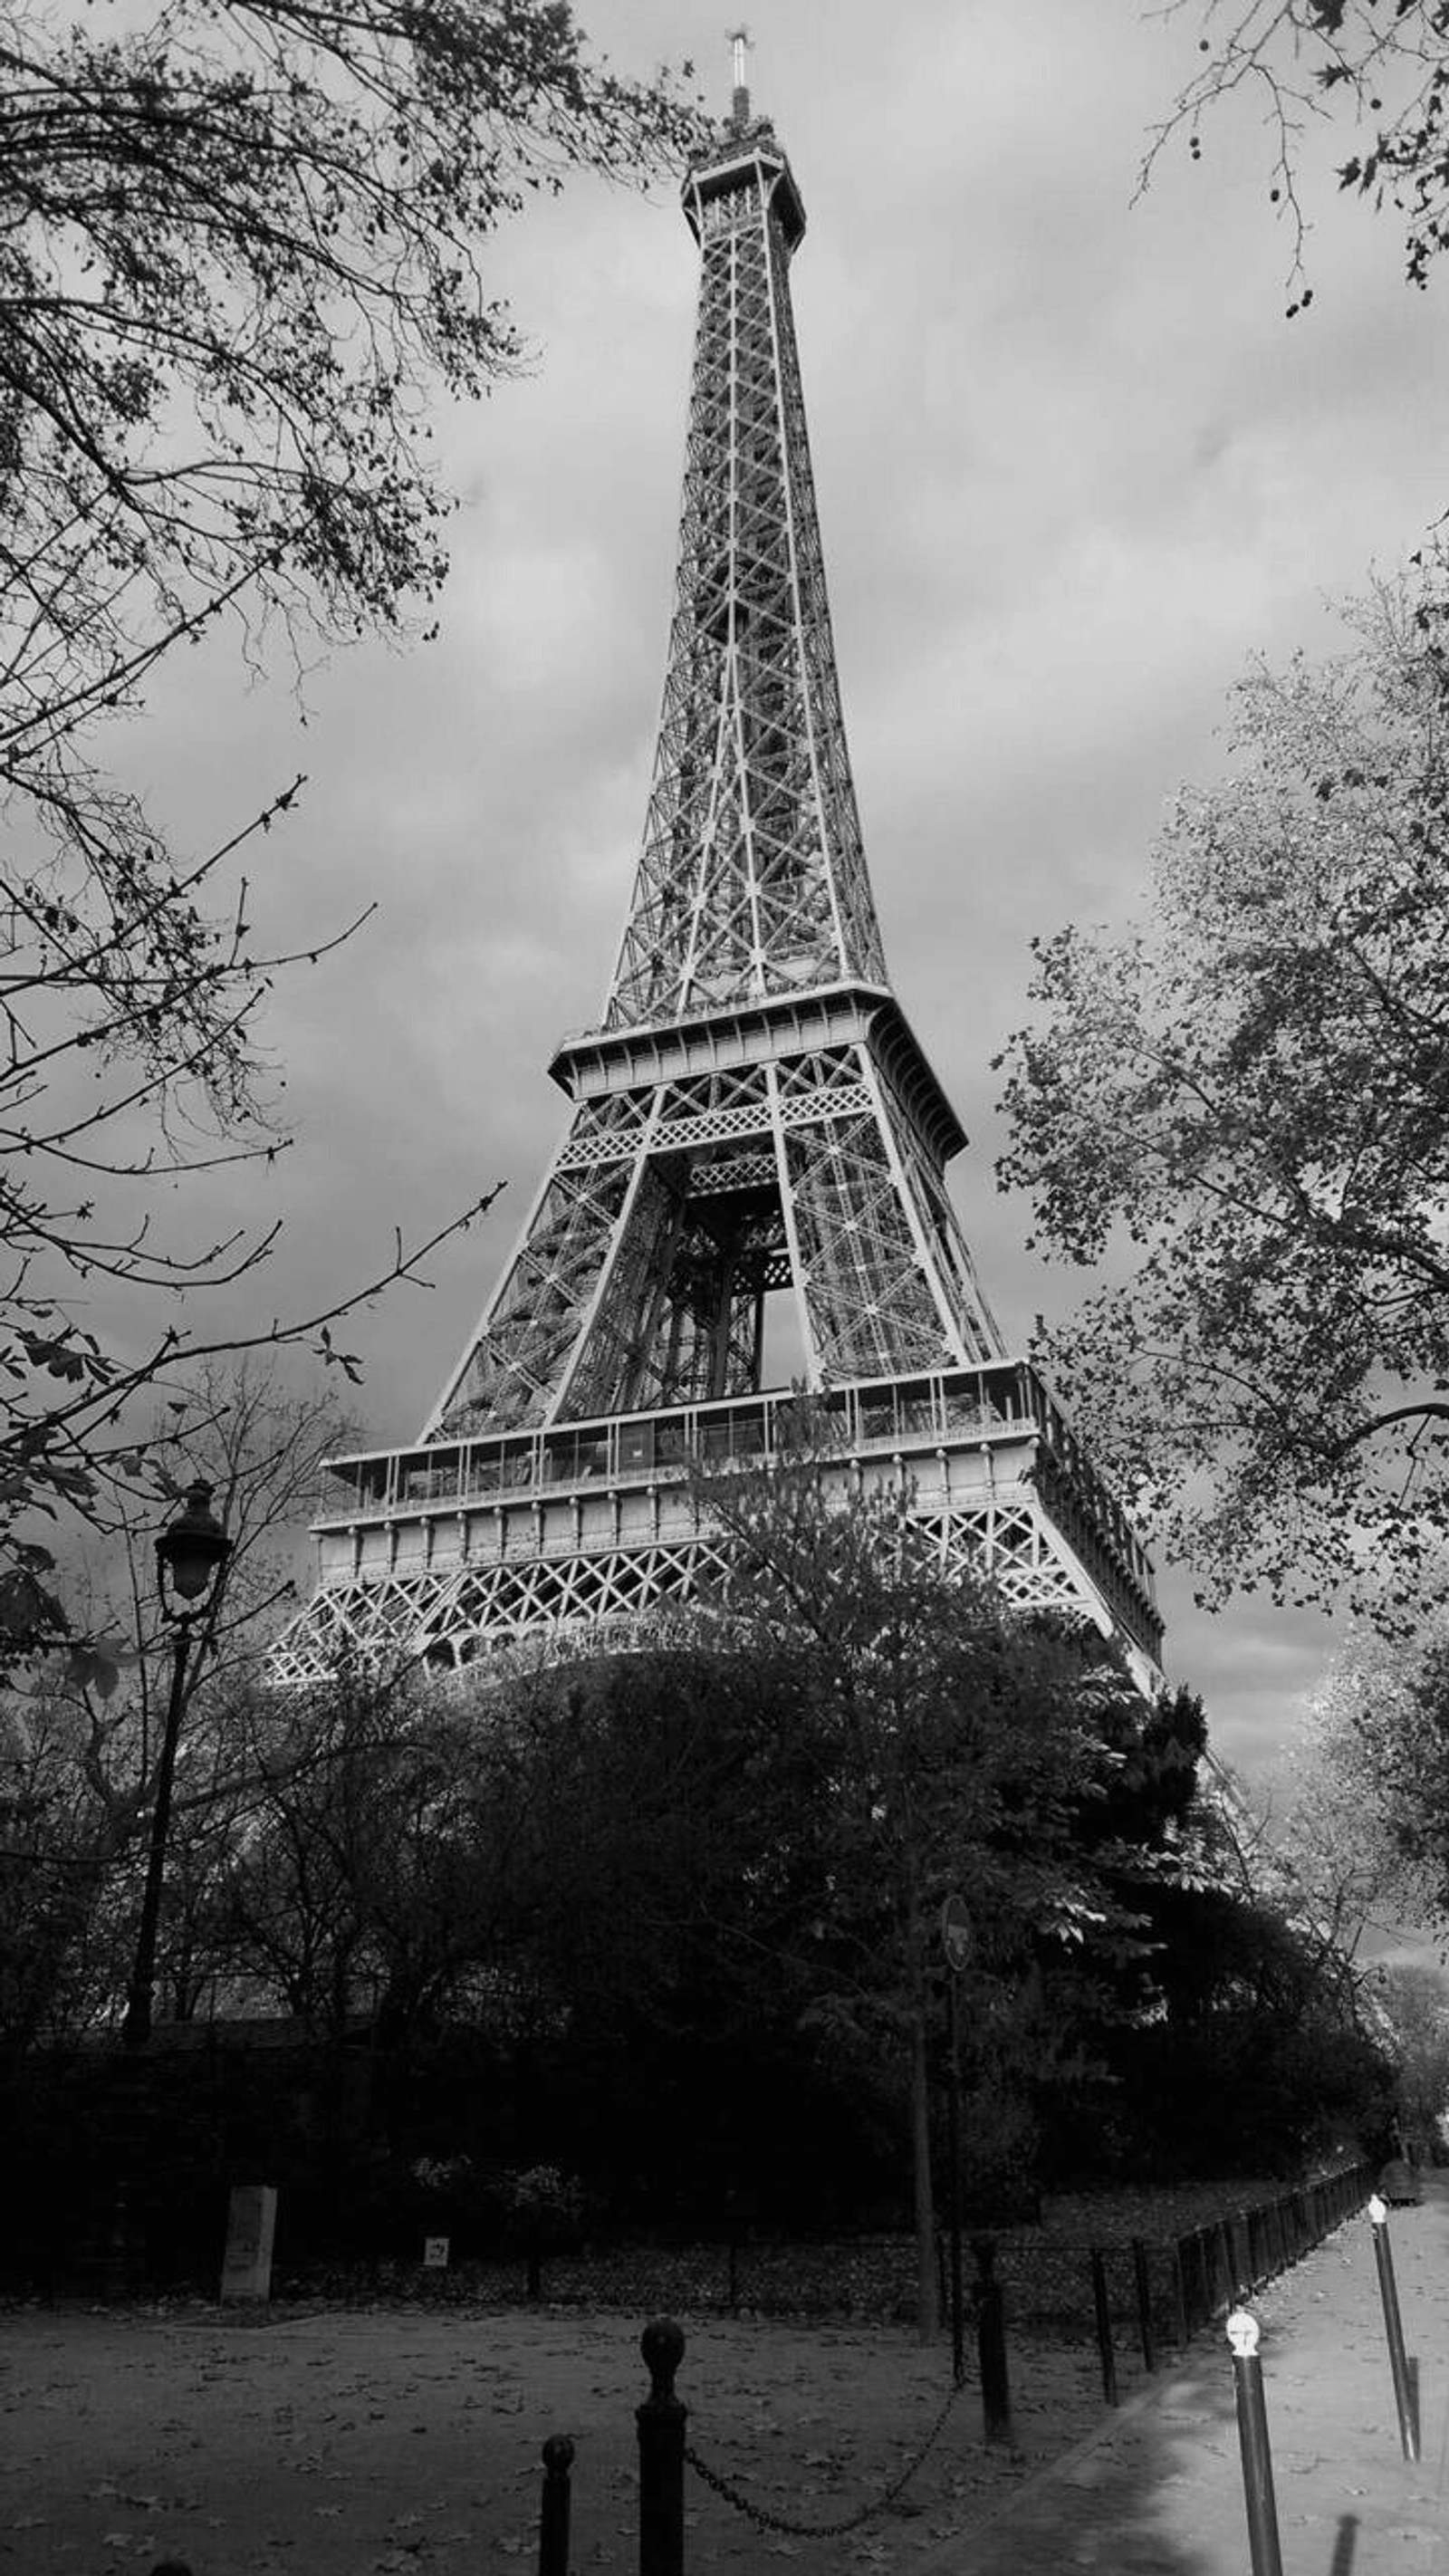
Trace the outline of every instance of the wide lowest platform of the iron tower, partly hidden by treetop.
{"label": "wide lowest platform of the iron tower, partly hidden by treetop", "polygon": [[[800,1406],[754,1394],[332,1461],[319,1589],[273,1649],[275,1680],[317,1682],[350,1656],[453,1669],[646,1643],[723,1564],[692,1463],[798,1455]],[[808,1419],[842,1494],[896,1486],[947,1571],[1091,1618],[1156,1687],[1145,1548],[1024,1360],[834,1386]]]}

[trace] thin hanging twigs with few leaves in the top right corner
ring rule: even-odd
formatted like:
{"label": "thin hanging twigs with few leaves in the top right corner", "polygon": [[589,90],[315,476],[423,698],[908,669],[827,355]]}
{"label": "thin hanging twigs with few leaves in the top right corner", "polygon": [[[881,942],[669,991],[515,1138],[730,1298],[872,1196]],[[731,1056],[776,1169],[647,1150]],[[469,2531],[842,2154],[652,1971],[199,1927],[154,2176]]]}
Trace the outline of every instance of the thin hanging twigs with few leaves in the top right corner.
{"label": "thin hanging twigs with few leaves in the top right corner", "polygon": [[1405,273],[1426,286],[1449,242],[1449,8],[1444,0],[1168,0],[1204,28],[1199,62],[1153,129],[1143,185],[1158,155],[1186,137],[1202,160],[1204,121],[1223,100],[1253,100],[1271,134],[1269,198],[1289,224],[1289,314],[1313,301],[1305,283],[1307,216],[1300,198],[1305,126],[1351,118],[1359,147],[1338,185],[1403,216]]}

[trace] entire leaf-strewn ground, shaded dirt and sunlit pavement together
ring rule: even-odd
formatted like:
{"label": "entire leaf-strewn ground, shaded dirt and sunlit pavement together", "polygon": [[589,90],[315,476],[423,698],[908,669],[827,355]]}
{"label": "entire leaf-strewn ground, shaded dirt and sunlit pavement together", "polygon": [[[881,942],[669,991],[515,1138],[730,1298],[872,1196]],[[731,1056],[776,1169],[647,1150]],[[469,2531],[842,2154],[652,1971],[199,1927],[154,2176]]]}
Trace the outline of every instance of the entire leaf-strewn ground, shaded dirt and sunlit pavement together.
{"label": "entire leaf-strewn ground, shaded dirt and sunlit pavement together", "polygon": [[[1449,2576],[1449,2177],[1395,2210],[1418,2465],[1400,2455],[1367,2218],[1256,2303],[1284,2576]],[[695,2321],[690,2437],[777,2514],[829,2522],[919,2447],[942,2352]],[[759,2530],[687,2483],[690,2576],[1248,2576],[1223,2334],[1102,2414],[1091,2347],[1014,2344],[1019,2452],[968,2385],[901,2504],[849,2537]],[[481,2576],[533,2566],[538,2445],[579,2445],[577,2576],[638,2563],[638,2321],[607,2316],[23,2311],[0,2324],[0,2568]]]}

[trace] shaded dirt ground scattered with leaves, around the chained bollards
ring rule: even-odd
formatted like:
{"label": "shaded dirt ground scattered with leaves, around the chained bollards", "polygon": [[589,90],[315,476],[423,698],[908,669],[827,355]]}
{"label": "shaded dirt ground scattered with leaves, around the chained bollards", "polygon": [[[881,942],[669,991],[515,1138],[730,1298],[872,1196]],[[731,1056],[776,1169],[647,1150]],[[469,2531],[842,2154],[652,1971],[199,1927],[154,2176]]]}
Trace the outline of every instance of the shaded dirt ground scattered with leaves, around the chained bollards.
{"label": "shaded dirt ground scattered with leaves, around the chained bollards", "polygon": [[[878,2494],[929,2432],[945,2347],[885,2329],[685,2324],[690,2439],[790,2519]],[[574,2568],[633,2568],[638,2321],[623,2316],[21,2311],[0,2321],[0,2566],[136,2576],[476,2576],[538,2550],[540,2442],[569,2432]],[[968,2383],[901,2506],[852,2537],[752,2527],[690,2476],[690,2566],[909,2571],[1099,2416],[1086,2347],[1014,2352],[1019,2455]]]}

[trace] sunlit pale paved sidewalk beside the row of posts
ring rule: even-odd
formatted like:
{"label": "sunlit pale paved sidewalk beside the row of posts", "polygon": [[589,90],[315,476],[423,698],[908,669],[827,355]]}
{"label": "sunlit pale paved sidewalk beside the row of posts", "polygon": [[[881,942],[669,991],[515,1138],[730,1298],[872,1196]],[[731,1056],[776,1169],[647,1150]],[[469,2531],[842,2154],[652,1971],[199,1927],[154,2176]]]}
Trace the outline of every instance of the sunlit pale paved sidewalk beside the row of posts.
{"label": "sunlit pale paved sidewalk beside the row of posts", "polygon": [[[1251,2300],[1284,2576],[1449,2576],[1449,2177],[1392,2210],[1421,2460],[1400,2450],[1369,2218]],[[1220,2326],[1176,2370],[1027,2478],[911,2576],[1248,2576],[1248,2517]]]}

